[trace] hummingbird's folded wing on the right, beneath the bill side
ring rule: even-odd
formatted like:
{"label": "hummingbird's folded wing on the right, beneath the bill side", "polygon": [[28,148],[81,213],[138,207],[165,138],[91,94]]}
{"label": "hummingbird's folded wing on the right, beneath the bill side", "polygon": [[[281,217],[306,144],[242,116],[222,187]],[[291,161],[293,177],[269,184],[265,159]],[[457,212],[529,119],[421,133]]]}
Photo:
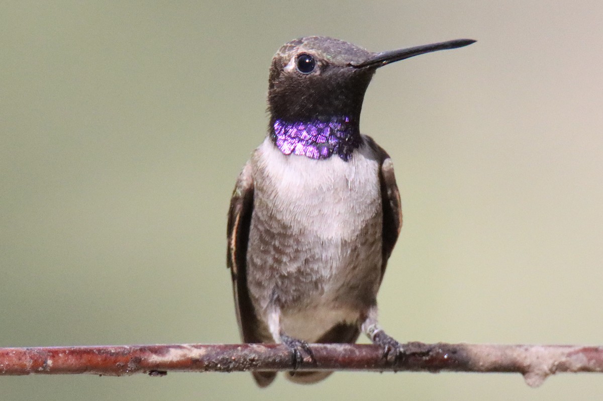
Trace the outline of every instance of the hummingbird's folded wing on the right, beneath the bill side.
{"label": "hummingbird's folded wing on the right, beneath the bill side", "polygon": [[381,266],[381,278],[385,273],[387,260],[390,258],[391,252],[394,250],[394,245],[400,229],[402,229],[402,207],[400,206],[400,192],[396,185],[396,176],[394,175],[394,164],[390,159],[390,155],[377,145],[371,137],[365,136],[367,144],[373,149],[379,160],[379,183],[381,186],[381,201],[383,206],[383,262]]}

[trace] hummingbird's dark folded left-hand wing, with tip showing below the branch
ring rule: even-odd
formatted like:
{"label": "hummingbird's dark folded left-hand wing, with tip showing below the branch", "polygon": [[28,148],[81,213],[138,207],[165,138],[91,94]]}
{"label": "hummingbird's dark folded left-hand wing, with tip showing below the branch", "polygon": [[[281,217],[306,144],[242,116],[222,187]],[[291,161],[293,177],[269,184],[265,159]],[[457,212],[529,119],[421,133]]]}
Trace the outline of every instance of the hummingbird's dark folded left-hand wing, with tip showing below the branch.
{"label": "hummingbird's dark folded left-hand wing, with tip showing below the branch", "polygon": [[[251,163],[247,162],[239,178],[230,200],[227,225],[227,265],[232,274],[232,288],[235,297],[236,320],[239,332],[245,343],[261,343],[257,329],[256,312],[249,298],[247,289],[247,243],[253,213],[253,175]],[[274,372],[252,372],[260,387],[265,387],[274,380]]]}

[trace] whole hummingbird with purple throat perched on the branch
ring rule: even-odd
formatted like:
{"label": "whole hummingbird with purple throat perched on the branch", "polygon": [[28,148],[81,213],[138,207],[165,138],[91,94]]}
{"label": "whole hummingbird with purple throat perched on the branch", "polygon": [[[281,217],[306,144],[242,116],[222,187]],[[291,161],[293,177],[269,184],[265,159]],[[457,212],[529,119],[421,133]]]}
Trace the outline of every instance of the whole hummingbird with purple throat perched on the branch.
{"label": "whole hummingbird with purple throat perched on the branch", "polygon": [[[450,40],[370,52],[330,37],[292,40],[268,78],[268,134],[230,201],[227,265],[245,343],[282,343],[297,383],[308,343],[355,343],[360,333],[395,361],[403,347],[379,326],[377,291],[402,227],[390,156],[360,133],[362,101],[377,68],[444,49]],[[260,387],[273,371],[254,371]]]}

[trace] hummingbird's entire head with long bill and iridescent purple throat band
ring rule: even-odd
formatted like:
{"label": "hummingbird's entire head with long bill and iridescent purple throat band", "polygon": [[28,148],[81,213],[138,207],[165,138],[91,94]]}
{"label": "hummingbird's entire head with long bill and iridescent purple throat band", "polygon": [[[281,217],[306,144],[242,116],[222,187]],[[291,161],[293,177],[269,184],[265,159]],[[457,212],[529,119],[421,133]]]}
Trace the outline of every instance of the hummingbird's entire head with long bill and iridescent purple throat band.
{"label": "hummingbird's entire head with long bill and iridescent purple throat band", "polygon": [[330,37],[286,43],[274,55],[268,86],[269,135],[283,154],[349,160],[361,145],[360,111],[377,68],[415,55],[467,46],[459,39],[373,53]]}

